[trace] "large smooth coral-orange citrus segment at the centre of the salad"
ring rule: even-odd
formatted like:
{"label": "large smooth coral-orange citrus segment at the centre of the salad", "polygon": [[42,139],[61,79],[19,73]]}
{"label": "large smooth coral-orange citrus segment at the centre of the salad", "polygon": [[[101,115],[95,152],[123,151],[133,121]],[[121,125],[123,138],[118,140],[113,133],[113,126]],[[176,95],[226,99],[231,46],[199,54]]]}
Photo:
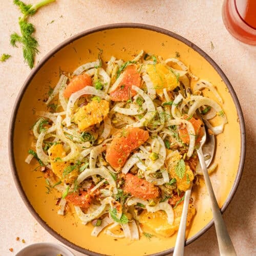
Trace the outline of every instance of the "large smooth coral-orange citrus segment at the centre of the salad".
{"label": "large smooth coral-orange citrus segment at the centre of the salad", "polygon": [[147,131],[137,127],[129,127],[128,129],[121,130],[115,135],[110,146],[106,149],[106,161],[114,169],[120,169],[130,153],[136,147],[143,144],[148,137]]}

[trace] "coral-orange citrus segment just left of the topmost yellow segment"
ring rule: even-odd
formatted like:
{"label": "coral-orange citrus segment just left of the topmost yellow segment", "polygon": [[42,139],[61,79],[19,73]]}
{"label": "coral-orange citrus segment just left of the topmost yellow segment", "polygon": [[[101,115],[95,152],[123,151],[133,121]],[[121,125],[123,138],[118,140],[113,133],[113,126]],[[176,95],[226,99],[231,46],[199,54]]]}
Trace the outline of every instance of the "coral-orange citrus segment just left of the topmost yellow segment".
{"label": "coral-orange citrus segment just left of the topmost yellow segment", "polygon": [[136,92],[132,90],[132,86],[140,87],[140,74],[137,72],[135,65],[127,66],[123,72],[123,79],[119,83],[117,89],[110,93],[110,97],[113,101],[127,101]]}

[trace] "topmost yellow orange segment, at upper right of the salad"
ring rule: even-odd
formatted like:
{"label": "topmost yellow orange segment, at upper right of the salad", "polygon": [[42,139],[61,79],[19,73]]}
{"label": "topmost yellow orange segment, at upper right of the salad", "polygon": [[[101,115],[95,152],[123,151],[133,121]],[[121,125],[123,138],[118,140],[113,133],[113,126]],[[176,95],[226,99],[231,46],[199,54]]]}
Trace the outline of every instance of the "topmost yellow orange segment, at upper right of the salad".
{"label": "topmost yellow orange segment, at upper right of the salad", "polygon": [[162,63],[147,65],[147,73],[153,82],[157,94],[163,94],[164,88],[167,91],[172,91],[179,85],[175,74],[172,73],[167,65]]}

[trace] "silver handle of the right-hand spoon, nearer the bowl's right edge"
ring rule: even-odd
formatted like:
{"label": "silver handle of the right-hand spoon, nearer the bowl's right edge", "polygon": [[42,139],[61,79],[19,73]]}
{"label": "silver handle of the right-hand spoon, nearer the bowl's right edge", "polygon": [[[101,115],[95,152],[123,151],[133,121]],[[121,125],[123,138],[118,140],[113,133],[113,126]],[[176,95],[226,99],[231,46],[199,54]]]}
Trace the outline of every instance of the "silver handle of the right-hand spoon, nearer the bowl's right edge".
{"label": "silver handle of the right-hand spoon, nearer the bowl's right edge", "polygon": [[215,229],[217,233],[217,239],[219,244],[219,250],[221,256],[236,256],[237,253],[234,250],[234,246],[232,244],[232,241],[229,237],[225,222],[223,220],[223,217],[221,215],[221,211],[219,208],[219,205],[217,203],[216,197],[214,195],[214,190],[212,189],[209,174],[205,165],[204,157],[202,148],[200,147],[197,150],[199,162],[201,164],[203,175],[204,175],[204,181],[207,188],[208,195],[210,197],[211,201],[211,211],[214,216],[214,223],[215,223]]}

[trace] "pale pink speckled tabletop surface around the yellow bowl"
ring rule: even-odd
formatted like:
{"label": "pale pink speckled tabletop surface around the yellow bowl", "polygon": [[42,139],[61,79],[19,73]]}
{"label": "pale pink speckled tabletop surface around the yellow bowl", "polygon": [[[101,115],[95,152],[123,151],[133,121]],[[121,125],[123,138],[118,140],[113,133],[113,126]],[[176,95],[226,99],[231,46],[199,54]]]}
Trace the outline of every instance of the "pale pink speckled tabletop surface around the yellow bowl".
{"label": "pale pink speckled tabletop surface around the yellow bowl", "polygon": [[[23,61],[22,50],[9,44],[10,34],[18,31],[19,11],[10,0],[2,0],[1,4],[5,8],[0,14],[0,54],[8,53],[12,57],[0,62],[0,255],[14,255],[30,243],[58,241],[31,216],[18,195],[11,175],[7,146],[9,120],[15,98],[30,69]],[[221,0],[57,0],[31,18],[40,45],[36,62],[71,35],[116,22],[165,28],[186,37],[209,54],[227,75],[238,95],[247,132],[244,173],[224,220],[238,255],[255,255],[256,47],[242,44],[227,32],[222,23],[221,5]],[[211,41],[214,49],[211,49]],[[20,241],[16,241],[16,237]],[[26,243],[22,243],[22,239]],[[9,248],[13,248],[13,252]],[[73,252],[77,256],[82,255]],[[214,227],[185,248],[185,255],[218,254]]]}

